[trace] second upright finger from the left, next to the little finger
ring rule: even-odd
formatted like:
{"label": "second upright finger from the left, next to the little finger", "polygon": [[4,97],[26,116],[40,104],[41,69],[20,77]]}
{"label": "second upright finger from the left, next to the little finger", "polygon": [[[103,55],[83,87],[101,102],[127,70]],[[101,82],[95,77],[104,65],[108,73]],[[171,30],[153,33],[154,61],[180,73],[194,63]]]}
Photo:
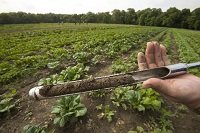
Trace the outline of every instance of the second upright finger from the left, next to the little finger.
{"label": "second upright finger from the left, next to the little finger", "polygon": [[152,42],[147,43],[147,48],[145,51],[146,62],[149,68],[157,67],[155,62],[155,49]]}

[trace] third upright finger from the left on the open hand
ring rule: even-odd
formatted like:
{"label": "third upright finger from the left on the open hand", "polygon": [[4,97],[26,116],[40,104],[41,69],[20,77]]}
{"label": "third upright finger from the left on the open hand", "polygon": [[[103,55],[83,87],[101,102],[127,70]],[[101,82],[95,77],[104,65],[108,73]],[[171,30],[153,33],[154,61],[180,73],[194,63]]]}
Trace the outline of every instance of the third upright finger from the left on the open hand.
{"label": "third upright finger from the left on the open hand", "polygon": [[161,56],[161,47],[158,42],[153,42],[154,44],[154,56],[155,56],[155,63],[158,67],[164,66],[164,61]]}

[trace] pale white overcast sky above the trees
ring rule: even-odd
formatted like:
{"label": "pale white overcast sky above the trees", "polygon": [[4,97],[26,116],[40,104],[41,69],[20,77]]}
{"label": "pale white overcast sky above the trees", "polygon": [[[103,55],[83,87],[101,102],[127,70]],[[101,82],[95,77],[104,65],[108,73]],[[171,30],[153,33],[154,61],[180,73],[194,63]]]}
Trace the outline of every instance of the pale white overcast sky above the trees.
{"label": "pale white overcast sky above the trees", "polygon": [[162,8],[191,10],[200,7],[200,0],[0,0],[0,12],[30,12],[30,13],[87,13],[105,12],[113,9],[126,10],[134,8]]}

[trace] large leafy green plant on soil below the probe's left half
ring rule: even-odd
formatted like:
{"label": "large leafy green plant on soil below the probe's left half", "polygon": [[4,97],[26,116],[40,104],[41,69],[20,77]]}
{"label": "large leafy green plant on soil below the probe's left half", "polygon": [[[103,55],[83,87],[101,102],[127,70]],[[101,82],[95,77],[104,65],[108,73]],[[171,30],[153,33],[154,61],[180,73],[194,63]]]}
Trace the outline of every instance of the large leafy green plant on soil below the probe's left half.
{"label": "large leafy green plant on soil below the probe's left half", "polygon": [[84,116],[86,112],[87,108],[80,102],[80,95],[72,95],[59,99],[51,113],[56,115],[54,124],[63,127],[67,122]]}

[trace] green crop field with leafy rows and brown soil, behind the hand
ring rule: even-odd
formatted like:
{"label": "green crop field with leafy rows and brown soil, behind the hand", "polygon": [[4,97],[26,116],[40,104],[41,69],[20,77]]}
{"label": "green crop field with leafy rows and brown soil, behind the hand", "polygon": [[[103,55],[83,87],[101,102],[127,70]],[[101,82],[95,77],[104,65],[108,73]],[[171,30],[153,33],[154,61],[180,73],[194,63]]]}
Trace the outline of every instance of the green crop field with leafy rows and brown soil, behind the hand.
{"label": "green crop field with leafy rows and brown soil, behind the hand", "polygon": [[[148,41],[200,61],[200,31],[117,24],[0,25],[0,132],[196,133],[200,116],[140,84],[35,101],[38,85],[138,70]],[[200,76],[200,69],[191,73]]]}

